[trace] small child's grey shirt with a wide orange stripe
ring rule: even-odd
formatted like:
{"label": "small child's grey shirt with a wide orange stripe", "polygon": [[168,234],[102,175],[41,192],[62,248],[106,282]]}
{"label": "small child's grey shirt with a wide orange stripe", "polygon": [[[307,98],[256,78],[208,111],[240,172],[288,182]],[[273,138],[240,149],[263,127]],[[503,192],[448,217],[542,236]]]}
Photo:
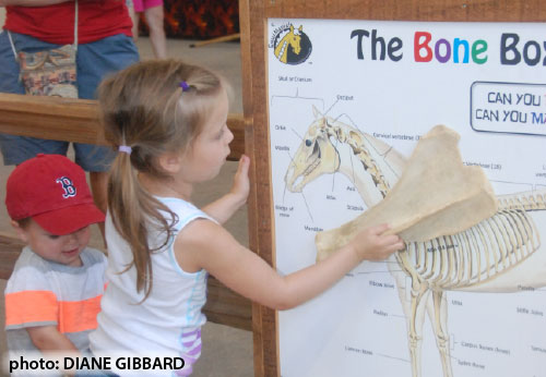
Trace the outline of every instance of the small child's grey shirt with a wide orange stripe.
{"label": "small child's grey shirt with a wide orange stripe", "polygon": [[37,326],[57,326],[80,350],[88,346],[106,289],[106,257],[87,247],[81,258],[81,267],[71,267],[23,250],[4,294],[10,350],[35,351],[25,328]]}

